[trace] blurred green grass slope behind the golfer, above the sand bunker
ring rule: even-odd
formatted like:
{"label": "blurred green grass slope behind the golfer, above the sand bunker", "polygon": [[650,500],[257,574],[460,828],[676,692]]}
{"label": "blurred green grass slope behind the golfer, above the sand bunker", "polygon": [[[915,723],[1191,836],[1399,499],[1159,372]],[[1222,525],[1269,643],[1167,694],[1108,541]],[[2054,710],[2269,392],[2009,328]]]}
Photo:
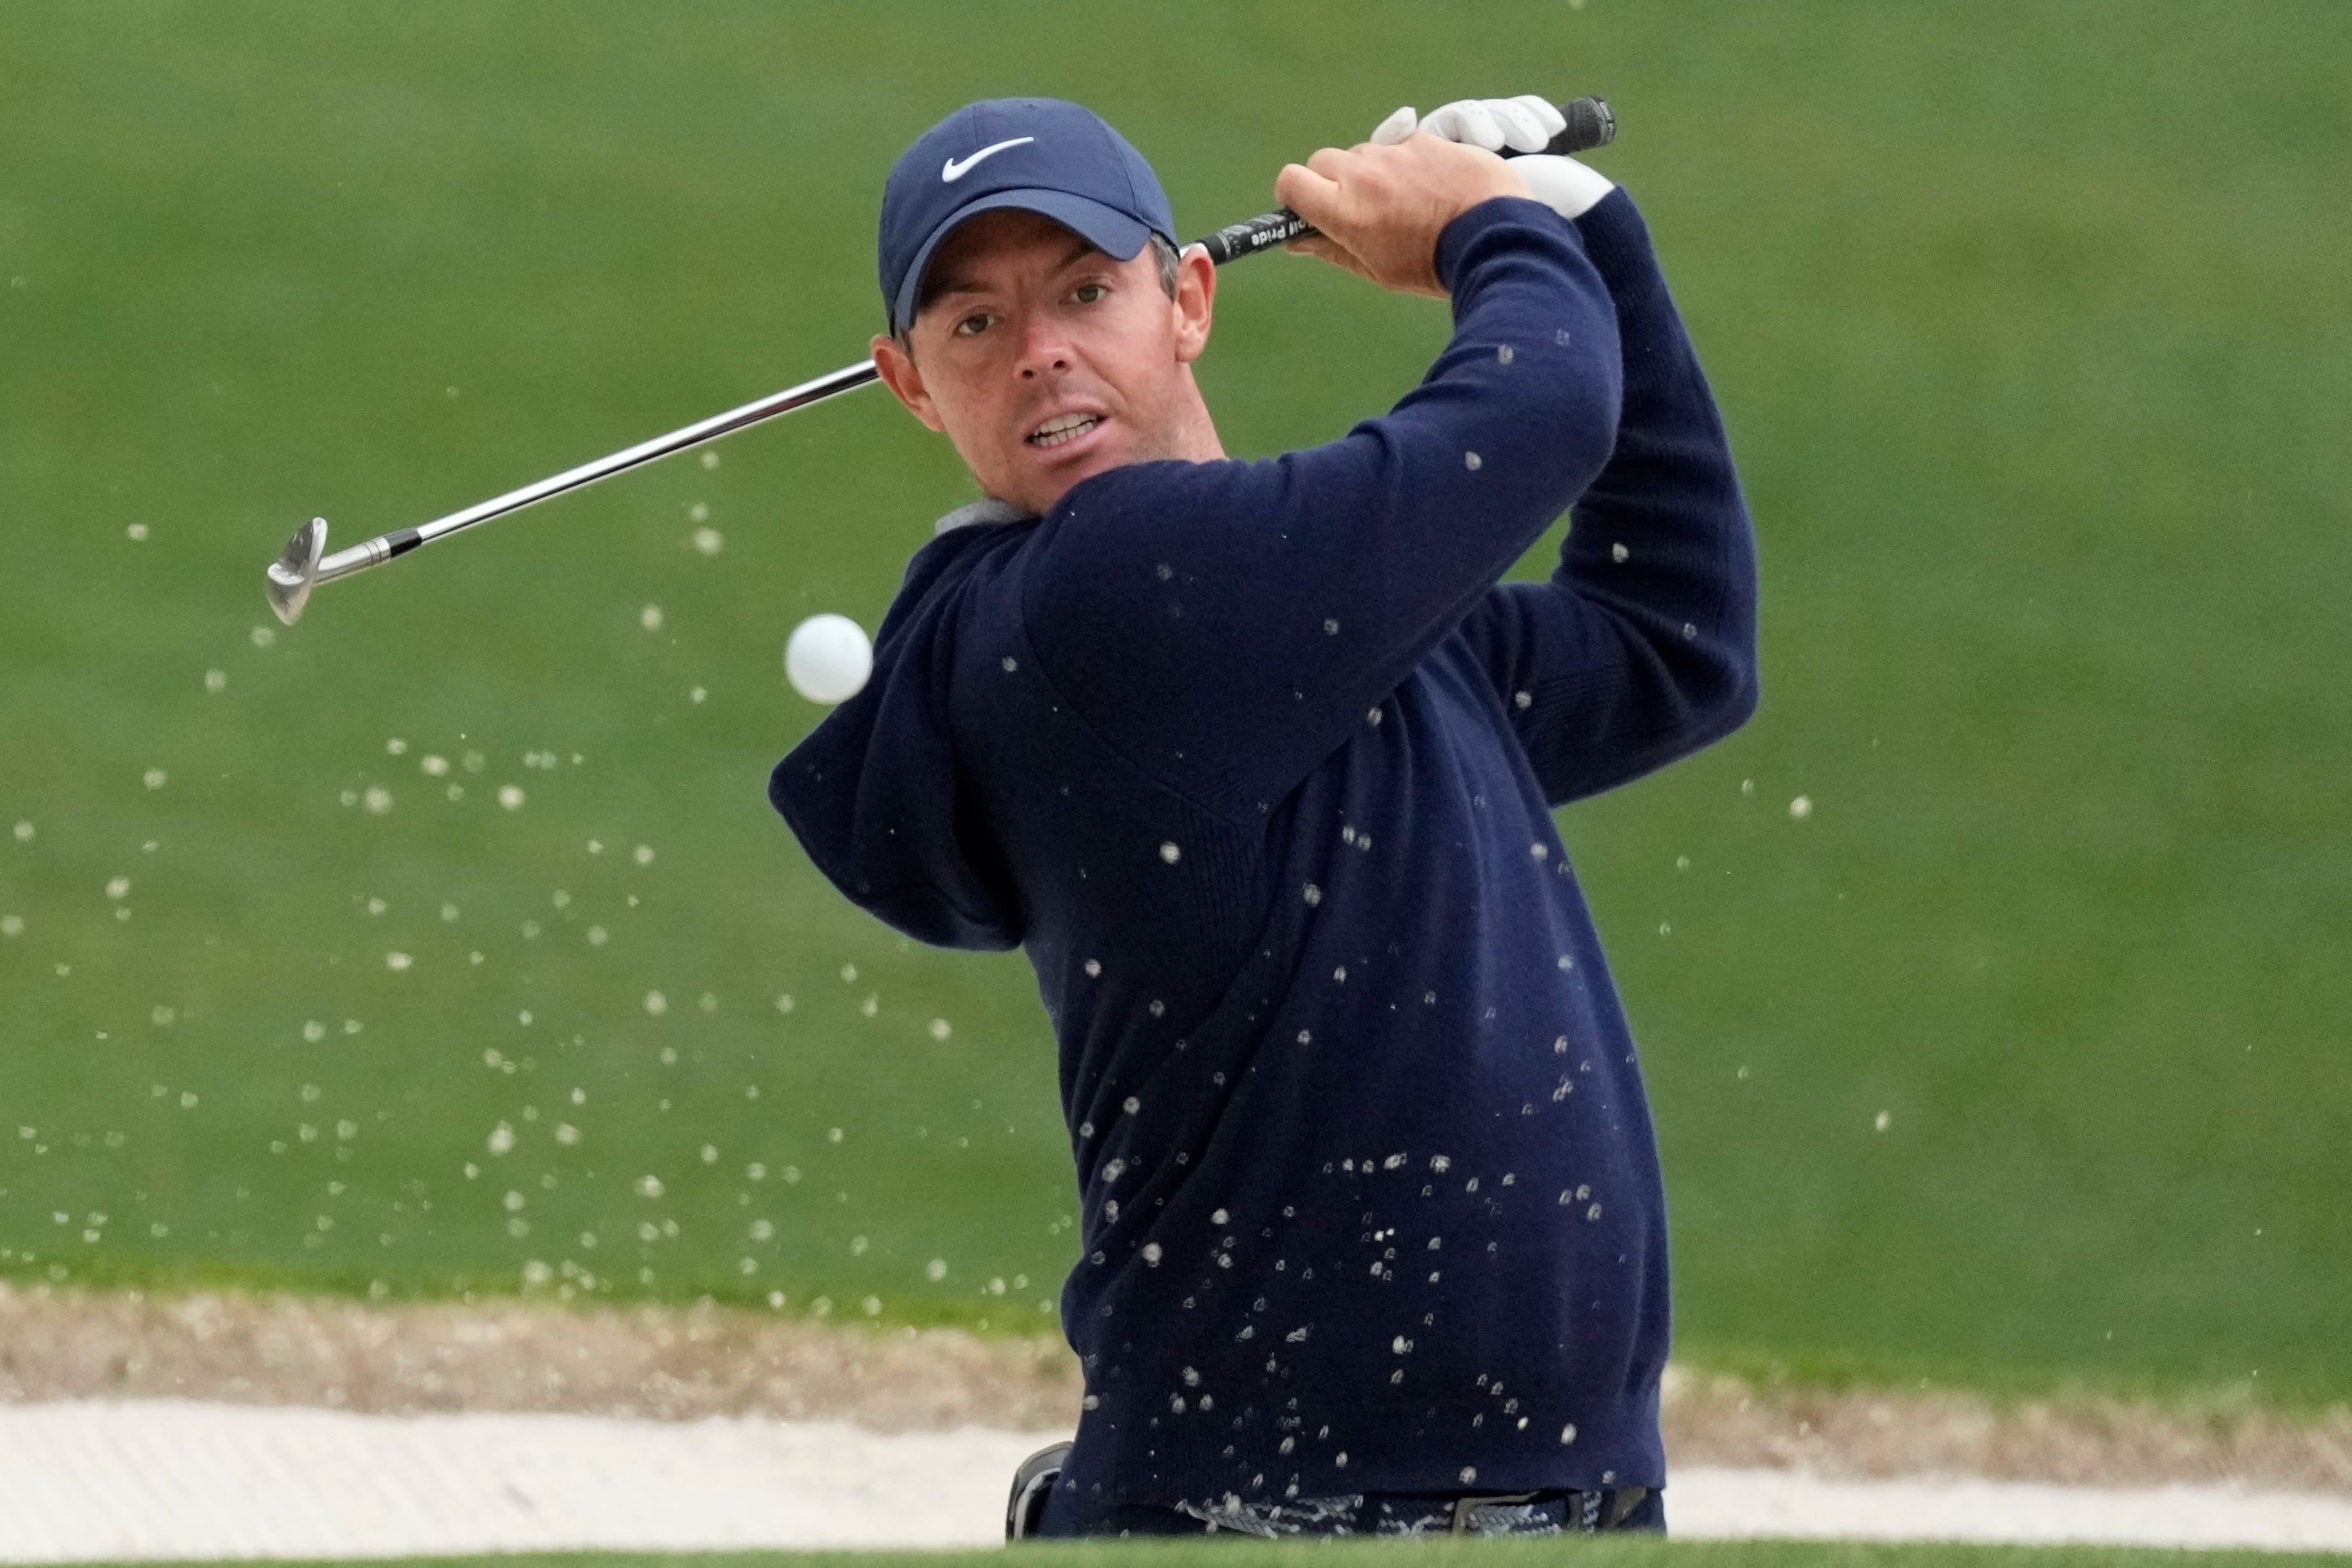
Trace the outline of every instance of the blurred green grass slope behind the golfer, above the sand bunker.
{"label": "blurred green grass slope behind the golfer, above the sand bunker", "polygon": [[[261,567],[863,357],[967,99],[1084,99],[1207,230],[1397,103],[1604,92],[1764,574],[1755,722],[1562,813],[1679,1354],[2352,1396],[2347,80],[2326,0],[12,0],[0,1274],[1051,1328],[1025,961],[762,795],[943,442],[858,393],[292,630]],[[1444,336],[1287,256],[1218,303],[1242,454]]]}

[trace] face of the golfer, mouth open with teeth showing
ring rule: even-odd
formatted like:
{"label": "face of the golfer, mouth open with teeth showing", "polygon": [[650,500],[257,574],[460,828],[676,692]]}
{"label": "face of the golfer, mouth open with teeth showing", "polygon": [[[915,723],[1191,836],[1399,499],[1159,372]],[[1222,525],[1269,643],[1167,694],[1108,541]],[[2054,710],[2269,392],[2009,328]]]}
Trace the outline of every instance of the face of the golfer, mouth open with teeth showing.
{"label": "face of the golfer, mouth open with teeth showing", "polygon": [[1192,360],[1216,268],[1185,256],[1176,299],[1150,247],[1112,261],[1033,212],[983,212],[938,247],[913,353],[873,343],[882,378],[943,430],[990,496],[1044,515],[1089,475],[1218,456]]}

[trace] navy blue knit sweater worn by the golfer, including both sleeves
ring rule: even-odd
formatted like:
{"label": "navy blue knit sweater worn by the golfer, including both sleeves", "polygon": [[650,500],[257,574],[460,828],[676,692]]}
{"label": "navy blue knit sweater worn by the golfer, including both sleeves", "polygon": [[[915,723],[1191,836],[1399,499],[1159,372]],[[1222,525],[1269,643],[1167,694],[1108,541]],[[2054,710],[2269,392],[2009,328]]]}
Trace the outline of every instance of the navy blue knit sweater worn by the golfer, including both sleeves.
{"label": "navy blue knit sweater worn by the golfer, including both sleeves", "polygon": [[1550,806],[1755,710],[1755,541],[1623,190],[1484,202],[1439,277],[1343,440],[924,545],[769,785],[854,903],[1037,971],[1087,1500],[1665,1481],[1658,1154]]}

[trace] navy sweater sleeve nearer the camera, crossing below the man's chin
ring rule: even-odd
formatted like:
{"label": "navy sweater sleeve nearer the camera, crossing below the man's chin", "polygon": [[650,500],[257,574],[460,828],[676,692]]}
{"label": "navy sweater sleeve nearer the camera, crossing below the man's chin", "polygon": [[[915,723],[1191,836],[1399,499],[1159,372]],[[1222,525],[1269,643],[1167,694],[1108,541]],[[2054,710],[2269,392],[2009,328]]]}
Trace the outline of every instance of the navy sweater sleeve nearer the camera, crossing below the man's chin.
{"label": "navy sweater sleeve nearer the camera, crossing below the man's chin", "polygon": [[1235,820],[1331,755],[1602,470],[1623,355],[1578,230],[1446,226],[1454,339],[1390,414],[1265,461],[1136,463],[1040,524],[1023,621],[1131,766]]}

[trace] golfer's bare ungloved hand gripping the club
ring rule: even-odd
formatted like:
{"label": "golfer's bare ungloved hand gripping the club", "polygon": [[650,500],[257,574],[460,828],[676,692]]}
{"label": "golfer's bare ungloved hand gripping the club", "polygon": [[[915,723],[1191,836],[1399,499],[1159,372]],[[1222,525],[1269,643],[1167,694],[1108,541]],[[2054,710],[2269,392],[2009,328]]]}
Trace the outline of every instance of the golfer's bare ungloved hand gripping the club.
{"label": "golfer's bare ungloved hand gripping the club", "polygon": [[1334,261],[1383,289],[1444,299],[1437,282],[1437,235],[1446,223],[1498,195],[1529,195],[1526,181],[1484,148],[1406,136],[1322,148],[1275,176],[1275,197],[1322,230],[1287,249]]}

